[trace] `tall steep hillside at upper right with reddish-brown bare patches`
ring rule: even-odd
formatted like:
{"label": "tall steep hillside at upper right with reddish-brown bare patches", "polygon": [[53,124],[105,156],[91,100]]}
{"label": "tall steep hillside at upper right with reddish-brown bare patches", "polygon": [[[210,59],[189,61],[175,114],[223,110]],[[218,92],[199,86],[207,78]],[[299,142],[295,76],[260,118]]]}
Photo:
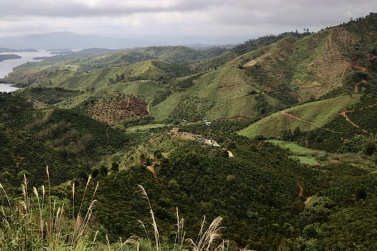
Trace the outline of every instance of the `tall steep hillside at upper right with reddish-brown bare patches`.
{"label": "tall steep hillside at upper right with reddish-brown bare patches", "polygon": [[[377,17],[358,24],[364,22],[376,26]],[[376,41],[374,31],[360,34],[345,24],[300,39],[283,38],[229,64],[244,68],[259,89],[286,104],[316,100],[334,91],[358,93],[364,88],[375,93]]]}

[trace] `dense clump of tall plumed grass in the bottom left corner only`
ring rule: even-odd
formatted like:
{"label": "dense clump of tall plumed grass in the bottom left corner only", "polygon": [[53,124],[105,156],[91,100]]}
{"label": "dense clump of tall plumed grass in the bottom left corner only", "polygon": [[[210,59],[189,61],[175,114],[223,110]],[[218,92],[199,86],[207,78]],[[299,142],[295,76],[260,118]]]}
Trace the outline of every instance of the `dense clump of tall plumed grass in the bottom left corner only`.
{"label": "dense clump of tall plumed grass in the bottom left corner only", "polygon": [[[90,246],[89,220],[96,203],[94,195],[98,184],[87,211],[83,213],[85,192],[91,180],[89,177],[81,199],[80,210],[77,216],[73,213],[72,218],[69,218],[66,215],[69,206],[61,201],[52,201],[48,167],[46,167],[46,172],[47,195],[44,186],[39,191],[34,187],[33,193],[29,194],[26,176],[21,185],[22,197],[10,197],[0,183],[1,197],[3,201],[6,201],[1,206],[0,213],[0,250],[86,250]],[[74,196],[75,186],[73,185]],[[95,241],[92,246],[94,243]]]}

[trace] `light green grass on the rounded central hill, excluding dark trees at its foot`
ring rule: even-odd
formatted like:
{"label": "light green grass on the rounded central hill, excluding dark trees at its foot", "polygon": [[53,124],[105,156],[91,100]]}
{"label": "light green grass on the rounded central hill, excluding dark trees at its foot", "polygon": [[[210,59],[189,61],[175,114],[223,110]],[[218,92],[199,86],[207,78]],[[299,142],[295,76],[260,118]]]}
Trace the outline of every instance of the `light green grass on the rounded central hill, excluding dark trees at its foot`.
{"label": "light green grass on the rounded central hill, excluding dark trees at its foot", "polygon": [[239,68],[226,66],[210,70],[194,79],[193,83],[193,86],[184,91],[175,91],[152,107],[152,116],[159,120],[168,119],[175,107],[190,96],[200,100],[196,108],[203,118],[213,120],[253,116],[255,100],[248,93],[256,90]]}

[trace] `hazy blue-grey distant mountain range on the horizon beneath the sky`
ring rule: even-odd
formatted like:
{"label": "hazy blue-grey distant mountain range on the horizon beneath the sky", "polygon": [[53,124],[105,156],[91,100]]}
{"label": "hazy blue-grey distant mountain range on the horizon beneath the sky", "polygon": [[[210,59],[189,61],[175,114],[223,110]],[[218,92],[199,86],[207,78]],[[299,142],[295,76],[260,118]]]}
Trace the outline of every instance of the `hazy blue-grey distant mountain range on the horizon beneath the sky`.
{"label": "hazy blue-grey distant mountain range on the horizon beneath the sky", "polygon": [[121,49],[146,47],[151,45],[192,45],[191,47],[200,48],[213,45],[235,45],[248,39],[250,39],[250,37],[246,36],[144,36],[140,38],[110,38],[104,36],[80,35],[72,32],[54,32],[0,38],[0,47],[8,47],[12,49],[34,48],[43,50],[61,47],[74,50],[92,47]]}

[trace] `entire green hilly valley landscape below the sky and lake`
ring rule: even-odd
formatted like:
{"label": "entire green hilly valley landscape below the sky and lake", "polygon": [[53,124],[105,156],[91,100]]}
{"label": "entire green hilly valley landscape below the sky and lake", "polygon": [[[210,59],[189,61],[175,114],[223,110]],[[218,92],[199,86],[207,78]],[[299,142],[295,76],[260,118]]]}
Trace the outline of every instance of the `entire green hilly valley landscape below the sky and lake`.
{"label": "entire green hilly valley landscape below the sky and lake", "polygon": [[179,250],[195,250],[184,238],[212,220],[219,250],[377,249],[376,44],[370,15],[15,67],[1,79],[19,89],[0,93],[0,249],[178,250],[184,231]]}

